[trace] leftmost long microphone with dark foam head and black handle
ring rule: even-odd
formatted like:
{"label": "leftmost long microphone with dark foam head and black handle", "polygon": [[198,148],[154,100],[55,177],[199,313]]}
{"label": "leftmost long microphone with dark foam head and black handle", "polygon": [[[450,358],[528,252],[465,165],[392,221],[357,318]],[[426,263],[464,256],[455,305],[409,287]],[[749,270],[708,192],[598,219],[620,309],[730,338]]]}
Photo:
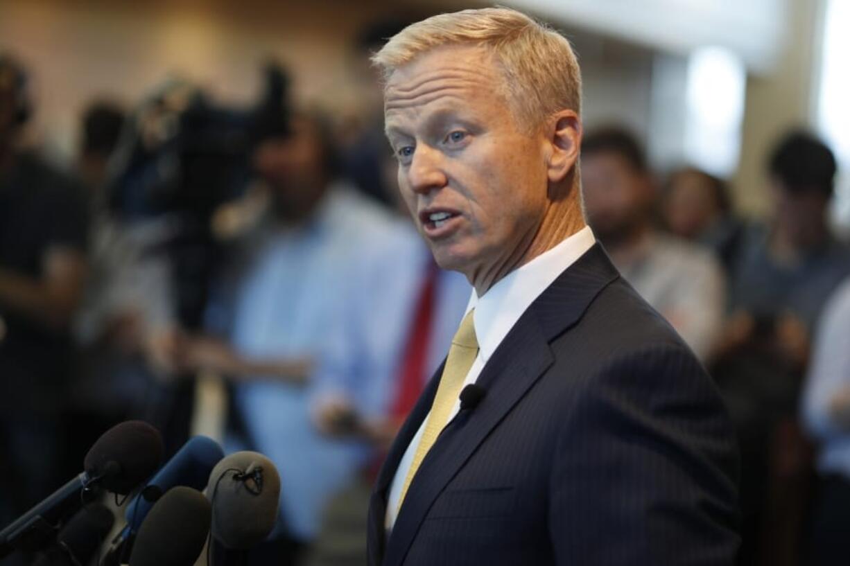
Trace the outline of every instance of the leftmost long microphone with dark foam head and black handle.
{"label": "leftmost long microphone with dark foam head and black handle", "polygon": [[[53,537],[59,520],[74,498],[99,487],[127,495],[162,461],[162,438],[142,421],[127,421],[106,431],[88,450],[83,472],[0,531],[0,558],[16,549],[37,550]],[[81,493],[82,492],[82,493]]]}

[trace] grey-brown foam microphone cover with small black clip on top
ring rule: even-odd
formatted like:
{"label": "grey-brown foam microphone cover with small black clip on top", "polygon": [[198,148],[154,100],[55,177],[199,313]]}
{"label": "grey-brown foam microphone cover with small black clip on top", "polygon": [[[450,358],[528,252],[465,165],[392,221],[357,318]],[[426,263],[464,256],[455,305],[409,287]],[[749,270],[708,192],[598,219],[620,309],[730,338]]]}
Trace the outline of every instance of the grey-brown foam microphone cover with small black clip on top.
{"label": "grey-brown foam microphone cover with small black clip on top", "polygon": [[235,452],[212,468],[207,497],[212,501],[212,536],[225,548],[251,548],[275,528],[280,475],[266,456]]}

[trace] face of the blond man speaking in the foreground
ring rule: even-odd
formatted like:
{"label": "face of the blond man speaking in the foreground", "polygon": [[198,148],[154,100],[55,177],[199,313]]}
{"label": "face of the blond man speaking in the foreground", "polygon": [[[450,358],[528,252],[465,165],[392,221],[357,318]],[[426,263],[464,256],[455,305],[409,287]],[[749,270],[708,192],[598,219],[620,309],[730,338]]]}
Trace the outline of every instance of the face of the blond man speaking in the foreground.
{"label": "face of the blond man speaking in the foreground", "polygon": [[385,95],[416,228],[473,284],[522,256],[547,209],[545,139],[519,131],[502,82],[483,48],[446,45],[394,71]]}

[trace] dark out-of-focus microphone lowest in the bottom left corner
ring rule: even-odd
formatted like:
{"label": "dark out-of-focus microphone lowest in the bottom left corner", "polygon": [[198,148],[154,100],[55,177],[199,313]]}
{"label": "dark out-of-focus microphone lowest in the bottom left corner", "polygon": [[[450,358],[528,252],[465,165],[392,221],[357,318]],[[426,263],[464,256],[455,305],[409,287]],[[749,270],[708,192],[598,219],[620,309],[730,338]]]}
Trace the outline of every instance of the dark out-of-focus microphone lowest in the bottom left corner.
{"label": "dark out-of-focus microphone lowest in the bottom left corner", "polygon": [[99,503],[83,507],[56,535],[56,544],[32,566],[78,566],[88,564],[112,529],[112,512]]}

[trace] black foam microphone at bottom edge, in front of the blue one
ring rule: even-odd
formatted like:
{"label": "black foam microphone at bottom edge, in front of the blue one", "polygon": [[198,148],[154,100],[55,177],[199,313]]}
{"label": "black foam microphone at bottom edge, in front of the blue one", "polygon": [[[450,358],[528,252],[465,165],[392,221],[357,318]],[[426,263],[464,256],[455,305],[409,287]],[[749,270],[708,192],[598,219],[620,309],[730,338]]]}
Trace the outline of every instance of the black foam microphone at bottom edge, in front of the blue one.
{"label": "black foam microphone at bottom edge, in front of the blue one", "polygon": [[150,508],[129,566],[191,566],[201,556],[212,508],[198,490],[178,485]]}

